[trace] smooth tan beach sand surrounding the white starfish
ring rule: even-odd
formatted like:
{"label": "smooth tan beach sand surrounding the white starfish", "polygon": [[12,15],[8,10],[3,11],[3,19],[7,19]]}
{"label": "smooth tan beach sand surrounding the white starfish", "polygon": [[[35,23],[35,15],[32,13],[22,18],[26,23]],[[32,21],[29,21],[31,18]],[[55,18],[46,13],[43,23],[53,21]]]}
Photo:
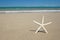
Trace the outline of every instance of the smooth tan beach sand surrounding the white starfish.
{"label": "smooth tan beach sand surrounding the white starfish", "polygon": [[[45,16],[45,23],[53,22],[45,26],[48,34],[35,30]],[[0,14],[0,40],[60,40],[60,13],[17,13]]]}

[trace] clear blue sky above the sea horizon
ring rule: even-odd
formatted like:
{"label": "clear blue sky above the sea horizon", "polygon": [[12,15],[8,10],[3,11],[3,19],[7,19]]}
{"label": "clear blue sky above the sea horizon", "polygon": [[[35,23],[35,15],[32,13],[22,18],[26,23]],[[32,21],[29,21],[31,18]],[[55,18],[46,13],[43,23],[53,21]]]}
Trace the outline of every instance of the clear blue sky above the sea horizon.
{"label": "clear blue sky above the sea horizon", "polygon": [[60,0],[0,0],[0,7],[60,6]]}

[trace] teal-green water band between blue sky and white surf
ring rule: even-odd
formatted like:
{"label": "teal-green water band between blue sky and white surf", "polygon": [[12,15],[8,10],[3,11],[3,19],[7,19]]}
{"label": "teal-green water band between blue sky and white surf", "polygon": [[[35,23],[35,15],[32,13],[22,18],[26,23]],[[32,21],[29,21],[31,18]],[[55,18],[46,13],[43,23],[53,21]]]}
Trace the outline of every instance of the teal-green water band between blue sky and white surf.
{"label": "teal-green water band between blue sky and white surf", "polygon": [[2,10],[60,10],[60,7],[0,7]]}

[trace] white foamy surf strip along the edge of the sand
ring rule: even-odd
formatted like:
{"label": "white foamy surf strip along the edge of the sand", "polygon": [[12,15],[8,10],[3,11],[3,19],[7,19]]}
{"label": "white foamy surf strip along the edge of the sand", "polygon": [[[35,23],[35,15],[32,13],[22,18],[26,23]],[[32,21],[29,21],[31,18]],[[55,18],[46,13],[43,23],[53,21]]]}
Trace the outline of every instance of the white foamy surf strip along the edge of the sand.
{"label": "white foamy surf strip along the edge of the sand", "polygon": [[0,11],[0,12],[6,12],[6,13],[10,13],[10,12],[60,12],[60,10],[19,10],[19,11]]}

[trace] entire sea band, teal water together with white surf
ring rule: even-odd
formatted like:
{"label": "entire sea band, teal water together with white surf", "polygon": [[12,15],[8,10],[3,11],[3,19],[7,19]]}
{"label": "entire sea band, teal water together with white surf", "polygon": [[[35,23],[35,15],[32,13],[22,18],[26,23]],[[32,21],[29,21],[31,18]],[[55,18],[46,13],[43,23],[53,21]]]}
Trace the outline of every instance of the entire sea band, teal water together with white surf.
{"label": "entire sea band, teal water together with white surf", "polygon": [[60,12],[60,7],[0,7],[0,12]]}

